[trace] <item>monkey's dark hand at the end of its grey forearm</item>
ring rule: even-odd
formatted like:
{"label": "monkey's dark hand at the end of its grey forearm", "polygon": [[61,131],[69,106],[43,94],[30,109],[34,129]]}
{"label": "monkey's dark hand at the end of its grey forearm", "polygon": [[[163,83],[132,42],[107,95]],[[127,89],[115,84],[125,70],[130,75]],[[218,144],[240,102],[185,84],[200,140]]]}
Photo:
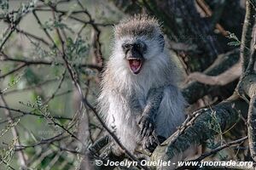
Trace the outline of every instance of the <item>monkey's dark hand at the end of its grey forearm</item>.
{"label": "monkey's dark hand at the end of its grey forearm", "polygon": [[139,127],[141,127],[141,131],[140,131],[141,135],[143,137],[148,137],[154,131],[154,116],[145,114],[141,117],[138,124],[139,124]]}

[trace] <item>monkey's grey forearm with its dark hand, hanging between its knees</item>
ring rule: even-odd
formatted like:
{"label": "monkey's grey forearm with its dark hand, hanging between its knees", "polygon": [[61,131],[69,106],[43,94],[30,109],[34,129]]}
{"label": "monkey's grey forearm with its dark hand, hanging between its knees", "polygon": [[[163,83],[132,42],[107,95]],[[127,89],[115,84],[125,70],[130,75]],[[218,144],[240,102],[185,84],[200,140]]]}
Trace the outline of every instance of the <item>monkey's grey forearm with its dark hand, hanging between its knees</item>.
{"label": "monkey's grey forearm with its dark hand, hanging between its knees", "polygon": [[141,135],[148,137],[152,135],[155,127],[155,117],[163,98],[163,88],[152,88],[149,90],[147,104],[143,109],[143,115],[139,121]]}

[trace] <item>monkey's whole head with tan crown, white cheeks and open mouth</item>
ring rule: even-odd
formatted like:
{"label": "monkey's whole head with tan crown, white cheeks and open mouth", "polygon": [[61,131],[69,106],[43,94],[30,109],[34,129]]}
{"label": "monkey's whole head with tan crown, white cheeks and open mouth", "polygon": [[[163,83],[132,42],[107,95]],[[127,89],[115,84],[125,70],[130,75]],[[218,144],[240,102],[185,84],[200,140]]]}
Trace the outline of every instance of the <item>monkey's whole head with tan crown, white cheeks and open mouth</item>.
{"label": "monkey's whole head with tan crown, white cheeks and open mouth", "polygon": [[164,44],[158,20],[139,14],[120,21],[114,26],[112,66],[132,75],[156,71]]}

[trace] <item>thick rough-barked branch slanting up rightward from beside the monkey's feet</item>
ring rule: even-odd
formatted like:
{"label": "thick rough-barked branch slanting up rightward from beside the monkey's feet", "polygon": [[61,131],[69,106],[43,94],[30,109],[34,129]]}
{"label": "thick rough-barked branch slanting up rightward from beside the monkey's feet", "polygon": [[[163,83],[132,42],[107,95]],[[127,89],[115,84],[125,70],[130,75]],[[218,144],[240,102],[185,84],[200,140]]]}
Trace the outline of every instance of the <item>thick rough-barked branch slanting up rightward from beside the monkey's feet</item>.
{"label": "thick rough-barked branch slanting up rightward from beside the monkey's feet", "polygon": [[[212,109],[202,109],[200,116],[196,117],[195,123],[187,127],[177,139],[173,137],[167,139],[158,146],[151,156],[153,161],[182,161],[186,154],[196,145],[211,138],[217,132],[210,128],[209,122],[221,127],[221,132],[229,129],[239,120],[240,111],[247,111],[247,103],[234,94],[230,99],[212,107]],[[170,143],[170,141],[172,141]],[[174,166],[173,166],[174,167]],[[173,167],[168,167],[172,169]],[[167,167],[155,167],[155,169],[165,169]]]}

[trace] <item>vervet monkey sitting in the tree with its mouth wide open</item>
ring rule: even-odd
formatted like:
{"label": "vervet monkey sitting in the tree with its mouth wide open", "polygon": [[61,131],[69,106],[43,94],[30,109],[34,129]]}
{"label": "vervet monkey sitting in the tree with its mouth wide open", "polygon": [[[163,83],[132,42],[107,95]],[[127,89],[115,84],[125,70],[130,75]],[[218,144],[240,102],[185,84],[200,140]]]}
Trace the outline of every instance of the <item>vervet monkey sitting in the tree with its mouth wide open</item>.
{"label": "vervet monkey sitting in the tree with its mouth wide open", "polygon": [[126,149],[152,150],[183,123],[185,102],[177,77],[157,20],[136,15],[114,26],[98,100],[108,127]]}

